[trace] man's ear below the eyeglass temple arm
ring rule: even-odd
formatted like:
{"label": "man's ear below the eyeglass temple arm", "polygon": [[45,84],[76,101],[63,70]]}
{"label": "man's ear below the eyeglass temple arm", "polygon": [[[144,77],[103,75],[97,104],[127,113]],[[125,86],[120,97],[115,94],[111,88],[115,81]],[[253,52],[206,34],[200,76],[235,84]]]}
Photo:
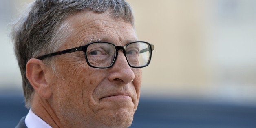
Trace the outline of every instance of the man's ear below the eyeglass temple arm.
{"label": "man's ear below the eyeglass temple arm", "polygon": [[51,86],[48,82],[47,66],[38,59],[32,58],[26,64],[26,77],[38,95],[48,99],[52,95]]}

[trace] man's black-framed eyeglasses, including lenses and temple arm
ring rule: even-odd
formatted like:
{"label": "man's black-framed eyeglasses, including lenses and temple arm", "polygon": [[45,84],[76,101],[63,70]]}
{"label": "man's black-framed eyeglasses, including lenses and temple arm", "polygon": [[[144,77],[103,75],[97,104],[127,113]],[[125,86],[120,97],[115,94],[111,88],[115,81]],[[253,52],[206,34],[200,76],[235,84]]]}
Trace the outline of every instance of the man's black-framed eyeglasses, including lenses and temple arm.
{"label": "man's black-framed eyeglasses, including lenses and temple arm", "polygon": [[125,46],[115,46],[109,42],[92,42],[84,46],[57,51],[37,57],[44,59],[55,55],[84,51],[87,64],[93,68],[110,68],[117,60],[118,50],[122,50],[130,67],[142,68],[148,66],[154,45],[144,41],[130,42]]}

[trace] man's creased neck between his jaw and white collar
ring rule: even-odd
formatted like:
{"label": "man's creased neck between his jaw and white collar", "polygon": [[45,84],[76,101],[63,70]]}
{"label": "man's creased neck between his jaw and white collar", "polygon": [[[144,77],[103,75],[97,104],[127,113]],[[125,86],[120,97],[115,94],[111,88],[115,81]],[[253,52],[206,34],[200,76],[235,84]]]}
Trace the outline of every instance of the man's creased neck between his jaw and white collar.
{"label": "man's creased neck between his jaw and white collar", "polygon": [[47,99],[43,99],[37,93],[33,96],[32,111],[53,128],[63,128],[60,119],[52,109]]}

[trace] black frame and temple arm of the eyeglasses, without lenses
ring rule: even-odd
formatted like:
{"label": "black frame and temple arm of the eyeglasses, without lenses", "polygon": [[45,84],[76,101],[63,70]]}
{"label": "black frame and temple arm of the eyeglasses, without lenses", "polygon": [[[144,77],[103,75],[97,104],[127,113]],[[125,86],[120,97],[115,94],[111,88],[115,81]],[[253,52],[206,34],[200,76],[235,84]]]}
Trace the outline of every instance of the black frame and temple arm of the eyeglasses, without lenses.
{"label": "black frame and temple arm of the eyeglasses, without lenses", "polygon": [[[87,53],[86,53],[86,51],[87,51],[87,48],[88,48],[88,46],[89,46],[90,44],[95,44],[95,43],[107,43],[107,44],[111,44],[111,45],[113,45],[113,46],[115,47],[115,49],[116,49],[115,58],[114,58],[113,62],[110,64],[110,66],[108,66],[108,67],[95,67],[95,66],[92,66],[92,65],[89,63],[89,61],[88,61],[88,59],[87,59]],[[132,66],[132,65],[130,65],[130,63],[129,63],[128,59],[127,59],[127,56],[126,56],[126,47],[127,47],[129,44],[133,44],[133,43],[146,43],[146,44],[148,44],[148,46],[149,46],[150,49],[142,49],[142,50],[140,51],[140,53],[143,53],[143,52],[145,52],[145,51],[150,51],[150,57],[149,57],[149,60],[148,60],[148,63],[147,63],[147,64],[145,64],[145,65],[143,65],[143,66]],[[86,45],[83,45],[83,46],[79,46],[79,47],[75,47],[75,48],[71,48],[71,49],[66,49],[66,50],[57,51],[57,52],[54,52],[54,53],[42,55],[42,56],[40,56],[40,57],[37,57],[36,59],[43,60],[44,58],[48,58],[48,57],[52,57],[52,56],[56,56],[56,55],[62,55],[62,54],[66,54],[66,53],[72,53],[72,52],[75,52],[75,51],[83,51],[83,52],[84,52],[85,60],[86,60],[87,64],[88,64],[90,67],[93,67],[93,68],[102,68],[102,69],[104,69],[104,68],[110,68],[110,67],[112,67],[112,66],[115,64],[115,61],[117,60],[117,56],[118,56],[118,51],[119,51],[119,50],[122,50],[122,51],[123,51],[124,56],[126,57],[126,61],[127,61],[127,63],[129,64],[130,67],[132,67],[132,68],[143,68],[143,67],[148,66],[148,64],[149,64],[150,61],[151,61],[152,51],[154,50],[154,45],[153,45],[153,44],[150,44],[150,43],[148,43],[148,42],[145,42],[145,41],[130,42],[130,43],[124,45],[124,46],[116,46],[115,44],[112,44],[112,43],[110,43],[110,42],[102,42],[102,41],[100,41],[100,42],[91,42],[91,43],[86,44]]]}

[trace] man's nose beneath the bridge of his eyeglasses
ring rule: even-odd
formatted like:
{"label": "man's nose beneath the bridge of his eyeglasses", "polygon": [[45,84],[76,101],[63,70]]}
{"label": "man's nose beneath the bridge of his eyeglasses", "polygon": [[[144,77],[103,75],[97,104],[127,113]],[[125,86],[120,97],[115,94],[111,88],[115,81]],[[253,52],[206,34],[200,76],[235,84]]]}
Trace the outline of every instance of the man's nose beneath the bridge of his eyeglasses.
{"label": "man's nose beneath the bridge of his eyeglasses", "polygon": [[108,79],[110,81],[121,81],[124,82],[124,84],[128,84],[133,81],[135,74],[129,66],[124,53],[122,51],[118,52],[117,60],[110,68],[111,73]]}

